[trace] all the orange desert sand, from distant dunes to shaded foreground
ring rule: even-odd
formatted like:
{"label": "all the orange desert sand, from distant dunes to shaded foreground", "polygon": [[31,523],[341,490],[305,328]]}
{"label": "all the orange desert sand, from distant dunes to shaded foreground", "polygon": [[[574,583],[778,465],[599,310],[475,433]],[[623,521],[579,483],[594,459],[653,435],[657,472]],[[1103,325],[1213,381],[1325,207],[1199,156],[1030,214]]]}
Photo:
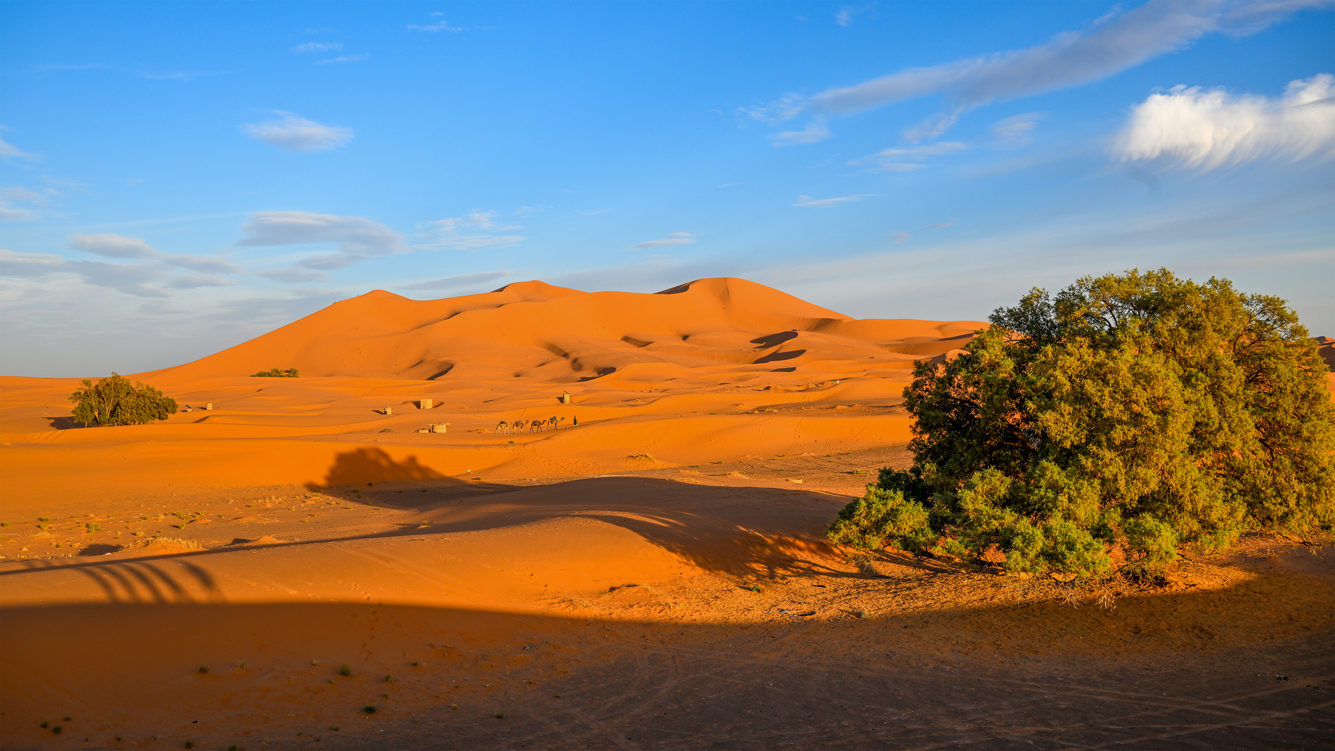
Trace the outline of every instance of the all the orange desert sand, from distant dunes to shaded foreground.
{"label": "all the orange desert sand, from distant dunes to shaded foreground", "polygon": [[0,378],[0,747],[1330,746],[1331,547],[1089,593],[826,544],[981,326],[523,282],[132,374],[155,425]]}

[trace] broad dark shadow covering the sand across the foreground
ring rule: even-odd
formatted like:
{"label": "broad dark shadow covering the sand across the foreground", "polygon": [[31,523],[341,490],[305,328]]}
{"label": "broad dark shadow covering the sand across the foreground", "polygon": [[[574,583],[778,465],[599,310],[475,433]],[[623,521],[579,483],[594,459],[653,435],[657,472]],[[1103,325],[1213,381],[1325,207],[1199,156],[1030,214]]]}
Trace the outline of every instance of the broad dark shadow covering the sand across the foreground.
{"label": "broad dark shadow covering the sand across the foreground", "polygon": [[[175,565],[117,568],[164,597],[172,579],[199,584]],[[0,743],[51,747],[39,722],[69,712],[163,747],[298,731],[322,748],[1327,746],[1328,627],[1302,632],[1264,591],[1235,589],[1112,613],[1047,603],[817,623],[380,603],[11,608]],[[1183,624],[1254,616],[1270,632],[1222,647]],[[1127,645],[1141,625],[1153,632]]]}

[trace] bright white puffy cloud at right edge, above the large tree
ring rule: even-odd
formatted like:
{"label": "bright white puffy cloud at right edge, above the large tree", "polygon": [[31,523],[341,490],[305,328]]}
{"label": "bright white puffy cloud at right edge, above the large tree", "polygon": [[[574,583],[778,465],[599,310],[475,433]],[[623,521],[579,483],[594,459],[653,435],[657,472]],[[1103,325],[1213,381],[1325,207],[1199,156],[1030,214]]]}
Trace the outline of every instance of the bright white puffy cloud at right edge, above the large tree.
{"label": "bright white puffy cloud at right edge, above the large tree", "polygon": [[1335,76],[1290,82],[1283,96],[1175,86],[1131,112],[1113,147],[1120,162],[1211,171],[1248,162],[1335,158]]}

